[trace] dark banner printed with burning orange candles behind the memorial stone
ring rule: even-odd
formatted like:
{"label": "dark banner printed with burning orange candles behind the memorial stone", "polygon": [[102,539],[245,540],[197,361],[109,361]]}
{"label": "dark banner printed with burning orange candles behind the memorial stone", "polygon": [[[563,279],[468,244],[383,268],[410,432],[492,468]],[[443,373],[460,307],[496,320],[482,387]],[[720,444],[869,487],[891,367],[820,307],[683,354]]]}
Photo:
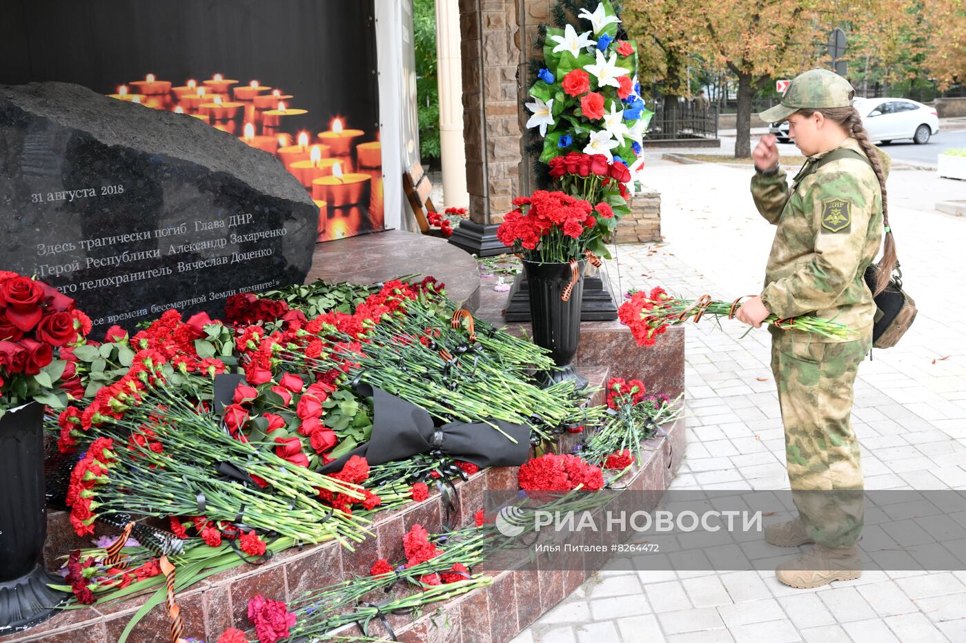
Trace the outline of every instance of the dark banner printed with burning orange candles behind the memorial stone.
{"label": "dark banner printed with burning orange candles behind the memorial stone", "polygon": [[298,178],[319,241],[384,229],[373,0],[0,0],[0,12],[0,84],[77,83],[199,119]]}

